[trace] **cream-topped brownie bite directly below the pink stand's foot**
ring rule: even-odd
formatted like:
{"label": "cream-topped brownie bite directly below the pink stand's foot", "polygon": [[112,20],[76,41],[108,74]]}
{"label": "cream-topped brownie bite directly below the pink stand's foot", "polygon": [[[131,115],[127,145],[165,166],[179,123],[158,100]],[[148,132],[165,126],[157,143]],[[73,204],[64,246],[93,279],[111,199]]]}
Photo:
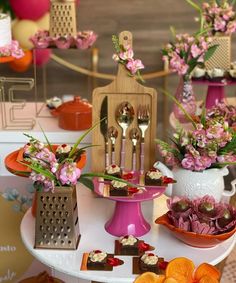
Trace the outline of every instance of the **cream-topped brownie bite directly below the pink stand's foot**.
{"label": "cream-topped brownie bite directly below the pink stand's foot", "polygon": [[139,240],[135,238],[132,235],[127,235],[124,237],[121,237],[119,239],[120,243],[120,253],[122,255],[138,255],[139,254],[139,248],[138,243]]}

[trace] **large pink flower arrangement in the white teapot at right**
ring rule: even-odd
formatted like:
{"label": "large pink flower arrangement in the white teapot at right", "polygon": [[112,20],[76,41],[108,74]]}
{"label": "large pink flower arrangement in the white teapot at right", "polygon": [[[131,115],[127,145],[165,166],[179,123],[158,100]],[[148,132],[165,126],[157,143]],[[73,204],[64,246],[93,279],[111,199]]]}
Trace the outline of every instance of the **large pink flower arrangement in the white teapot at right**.
{"label": "large pink flower arrangement in the white teapot at right", "polygon": [[193,122],[193,130],[178,129],[173,145],[156,140],[166,164],[191,171],[236,164],[236,129],[229,127],[228,113],[231,108],[228,112],[228,107],[220,104]]}

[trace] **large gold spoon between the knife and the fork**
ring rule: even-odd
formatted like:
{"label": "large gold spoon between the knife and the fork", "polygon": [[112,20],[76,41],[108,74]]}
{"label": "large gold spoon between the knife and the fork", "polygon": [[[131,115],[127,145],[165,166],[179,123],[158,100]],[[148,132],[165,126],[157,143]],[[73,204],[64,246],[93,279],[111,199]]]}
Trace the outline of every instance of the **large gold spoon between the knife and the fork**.
{"label": "large gold spoon between the knife and the fork", "polygon": [[120,168],[123,170],[125,167],[125,137],[129,125],[134,120],[134,108],[128,102],[122,102],[116,109],[116,121],[122,128],[122,144],[121,144],[121,158]]}

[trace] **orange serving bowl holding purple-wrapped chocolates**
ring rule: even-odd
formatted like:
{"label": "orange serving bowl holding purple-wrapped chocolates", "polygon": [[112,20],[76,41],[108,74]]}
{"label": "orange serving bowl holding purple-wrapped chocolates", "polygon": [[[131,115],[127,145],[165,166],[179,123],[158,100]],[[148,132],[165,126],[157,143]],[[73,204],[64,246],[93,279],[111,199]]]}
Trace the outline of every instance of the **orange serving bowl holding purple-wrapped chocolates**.
{"label": "orange serving bowl holding purple-wrapped chocolates", "polygon": [[179,229],[171,224],[167,213],[160,216],[155,221],[156,224],[164,225],[169,231],[180,241],[185,244],[197,248],[211,248],[223,241],[229,239],[236,232],[236,227],[230,232],[219,234],[219,235],[207,235],[207,234],[197,234],[194,232],[187,232],[185,230]]}

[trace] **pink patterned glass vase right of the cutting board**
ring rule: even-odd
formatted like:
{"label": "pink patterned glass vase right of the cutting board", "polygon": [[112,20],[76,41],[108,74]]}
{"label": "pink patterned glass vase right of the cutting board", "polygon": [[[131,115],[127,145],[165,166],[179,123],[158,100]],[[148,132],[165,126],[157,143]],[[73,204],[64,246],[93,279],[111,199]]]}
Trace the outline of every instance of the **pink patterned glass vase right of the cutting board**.
{"label": "pink patterned glass vase right of the cutting board", "polygon": [[[179,103],[189,113],[190,116],[194,116],[196,114],[196,99],[193,93],[193,86],[190,79],[183,77],[180,78],[179,85],[175,93],[175,98],[179,101]],[[180,123],[188,122],[188,118],[185,117],[185,114],[177,104],[174,104],[173,112],[175,118],[179,120]]]}

